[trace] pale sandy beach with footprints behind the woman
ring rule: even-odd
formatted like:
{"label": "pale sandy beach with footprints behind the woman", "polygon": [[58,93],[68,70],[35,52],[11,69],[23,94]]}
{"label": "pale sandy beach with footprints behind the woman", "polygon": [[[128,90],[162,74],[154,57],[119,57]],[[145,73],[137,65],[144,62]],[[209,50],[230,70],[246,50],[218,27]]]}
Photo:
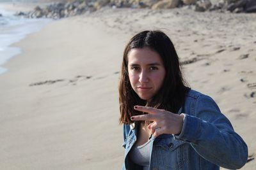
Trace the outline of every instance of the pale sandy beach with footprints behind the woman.
{"label": "pale sandy beach with footprints behind the woman", "polygon": [[118,78],[132,35],[160,29],[192,89],[211,96],[255,169],[256,14],[102,9],[56,20],[13,46],[0,74],[1,169],[121,169]]}

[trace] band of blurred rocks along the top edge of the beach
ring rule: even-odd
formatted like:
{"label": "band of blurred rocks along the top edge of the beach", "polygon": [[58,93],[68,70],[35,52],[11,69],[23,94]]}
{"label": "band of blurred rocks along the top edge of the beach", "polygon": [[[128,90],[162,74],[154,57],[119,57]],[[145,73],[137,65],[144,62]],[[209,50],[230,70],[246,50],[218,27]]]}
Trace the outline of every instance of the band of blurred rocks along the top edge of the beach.
{"label": "band of blurred rocks along the top edge of the beach", "polygon": [[220,0],[214,6],[212,6],[211,0],[70,0],[49,4],[45,8],[36,6],[33,11],[27,13],[19,12],[16,15],[28,18],[59,19],[99,10],[104,6],[111,8],[151,8],[156,10],[187,5],[193,6],[196,11],[256,12],[256,0]]}

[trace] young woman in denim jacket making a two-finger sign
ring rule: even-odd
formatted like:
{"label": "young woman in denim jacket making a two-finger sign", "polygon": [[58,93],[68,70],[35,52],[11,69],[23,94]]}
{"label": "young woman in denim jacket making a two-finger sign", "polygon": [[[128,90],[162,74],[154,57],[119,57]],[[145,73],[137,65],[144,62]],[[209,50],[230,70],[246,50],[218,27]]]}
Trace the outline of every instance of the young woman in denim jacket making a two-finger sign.
{"label": "young woman in denim jacket making a two-finger sign", "polygon": [[136,34],[124,50],[119,85],[123,169],[239,169],[248,148],[209,96],[189,89],[172,41]]}

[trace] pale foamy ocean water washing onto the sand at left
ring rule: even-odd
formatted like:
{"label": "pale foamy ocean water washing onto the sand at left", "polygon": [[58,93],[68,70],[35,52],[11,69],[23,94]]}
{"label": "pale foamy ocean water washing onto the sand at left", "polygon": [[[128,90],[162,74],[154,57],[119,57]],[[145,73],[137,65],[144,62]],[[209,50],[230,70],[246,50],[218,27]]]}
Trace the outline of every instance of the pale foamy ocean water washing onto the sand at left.
{"label": "pale foamy ocean water washing onto the sand at left", "polygon": [[15,12],[6,11],[0,4],[0,74],[7,71],[3,64],[22,52],[13,43],[19,42],[32,32],[40,31],[44,25],[49,24],[49,19],[29,19],[15,16]]}

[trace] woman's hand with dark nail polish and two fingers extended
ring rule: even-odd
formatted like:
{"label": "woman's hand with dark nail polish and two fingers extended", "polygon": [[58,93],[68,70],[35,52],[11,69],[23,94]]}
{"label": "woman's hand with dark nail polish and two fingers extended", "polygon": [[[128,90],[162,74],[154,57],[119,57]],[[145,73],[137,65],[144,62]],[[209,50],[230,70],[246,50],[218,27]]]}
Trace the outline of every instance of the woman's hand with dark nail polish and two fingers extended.
{"label": "woman's hand with dark nail polish and two fingers extended", "polygon": [[131,120],[152,121],[152,123],[148,125],[148,129],[150,129],[154,138],[160,134],[180,134],[182,130],[184,115],[177,115],[170,111],[147,106],[134,106],[134,110],[148,113],[147,115],[133,116]]}

